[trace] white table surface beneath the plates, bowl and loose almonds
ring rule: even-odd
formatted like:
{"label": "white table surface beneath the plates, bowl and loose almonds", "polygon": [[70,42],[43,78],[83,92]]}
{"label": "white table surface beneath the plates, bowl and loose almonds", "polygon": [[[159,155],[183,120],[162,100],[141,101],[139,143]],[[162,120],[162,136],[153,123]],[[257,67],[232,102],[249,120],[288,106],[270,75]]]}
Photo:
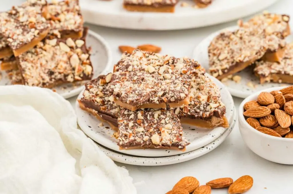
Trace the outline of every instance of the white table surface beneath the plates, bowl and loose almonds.
{"label": "white table surface beneath the plates, bowl and loose almonds", "polygon": [[[280,0],[267,8],[270,12],[293,12],[292,0]],[[293,13],[291,14],[293,18]],[[183,21],[184,22],[184,21]],[[163,54],[176,57],[192,57],[195,46],[208,34],[224,27],[235,25],[236,21],[212,27],[181,31],[133,31],[88,25],[109,43],[113,52],[113,64],[120,59],[119,45],[137,46],[155,44],[162,47]],[[293,26],[293,20],[291,20]],[[76,97],[69,99],[74,104]],[[236,109],[242,99],[235,98]],[[288,153],[293,154],[293,153]],[[269,162],[250,151],[241,139],[238,124],[229,137],[214,151],[187,162],[158,166],[143,167],[117,163],[125,166],[135,182],[144,181],[138,187],[139,194],[163,194],[171,190],[173,185],[184,176],[195,176],[200,183],[219,177],[231,177],[236,180],[242,175],[250,175],[254,179],[253,188],[249,193],[293,193],[293,166]],[[281,192],[282,191],[282,192]],[[212,193],[227,193],[223,190],[212,190]]]}

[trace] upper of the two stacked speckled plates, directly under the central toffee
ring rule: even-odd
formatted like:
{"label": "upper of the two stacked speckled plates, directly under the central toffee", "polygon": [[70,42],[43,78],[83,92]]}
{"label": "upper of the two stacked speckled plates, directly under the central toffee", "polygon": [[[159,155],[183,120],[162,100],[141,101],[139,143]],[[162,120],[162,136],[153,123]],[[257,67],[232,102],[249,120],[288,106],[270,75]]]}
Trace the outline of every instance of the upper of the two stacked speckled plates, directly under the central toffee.
{"label": "upper of the two stacked speckled plates, directly under the central toffee", "polygon": [[[223,103],[226,105],[226,117],[229,123],[231,123],[234,111],[233,99],[228,90],[225,89],[224,85],[220,81],[218,81],[210,75],[208,76],[211,77],[216,82],[218,87],[221,89],[222,100]],[[81,96],[82,93],[79,95],[78,98],[81,98]],[[86,111],[80,109],[77,102],[76,114],[78,119],[77,121],[81,129],[84,131],[85,134],[87,134],[91,139],[93,139],[97,143],[120,153],[144,157],[162,157],[187,153],[209,144],[210,142],[217,139],[220,135],[222,135],[226,130],[224,127],[216,127],[215,129],[211,130],[196,128],[191,125],[183,125],[184,137],[186,137],[190,142],[190,145],[186,147],[185,152],[167,149],[119,150],[119,146],[117,146],[117,140],[114,137],[111,137],[114,131],[108,125],[104,124],[103,127],[100,127],[100,121],[97,120],[94,116],[91,116]]]}

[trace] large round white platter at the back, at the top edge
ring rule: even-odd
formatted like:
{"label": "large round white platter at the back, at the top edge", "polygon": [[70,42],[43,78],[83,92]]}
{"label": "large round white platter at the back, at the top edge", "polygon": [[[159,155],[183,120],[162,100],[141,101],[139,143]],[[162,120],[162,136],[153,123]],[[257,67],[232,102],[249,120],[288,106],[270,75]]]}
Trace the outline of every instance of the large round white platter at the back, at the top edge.
{"label": "large round white platter at the back, at the top edge", "polygon": [[[193,0],[180,0],[174,13],[130,12],[122,1],[80,1],[84,20],[101,26],[141,29],[175,30],[215,25],[251,15],[272,5],[277,0],[215,0],[210,6],[196,9]],[[181,7],[186,2],[188,7]]]}

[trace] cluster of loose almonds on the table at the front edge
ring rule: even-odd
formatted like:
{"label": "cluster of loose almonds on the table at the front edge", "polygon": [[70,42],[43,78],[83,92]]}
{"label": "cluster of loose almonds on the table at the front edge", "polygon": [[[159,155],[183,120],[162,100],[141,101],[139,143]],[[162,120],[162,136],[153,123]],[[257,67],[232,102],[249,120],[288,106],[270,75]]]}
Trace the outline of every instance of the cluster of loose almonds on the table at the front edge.
{"label": "cluster of loose almonds on the table at the front edge", "polygon": [[252,186],[253,178],[248,175],[241,176],[235,182],[233,182],[233,179],[226,177],[211,180],[207,182],[206,185],[201,186],[195,177],[185,176],[180,179],[180,181],[174,185],[173,189],[168,191],[166,194],[211,194],[212,189],[228,187],[229,194],[236,194],[244,193]]}

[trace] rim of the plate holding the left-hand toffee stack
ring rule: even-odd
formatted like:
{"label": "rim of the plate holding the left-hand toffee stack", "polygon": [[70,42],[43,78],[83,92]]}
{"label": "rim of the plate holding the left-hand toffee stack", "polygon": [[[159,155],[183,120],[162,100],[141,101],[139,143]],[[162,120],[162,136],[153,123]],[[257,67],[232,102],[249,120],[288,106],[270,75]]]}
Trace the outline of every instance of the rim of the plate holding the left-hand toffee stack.
{"label": "rim of the plate holding the left-hand toffee stack", "polygon": [[[112,64],[112,60],[113,60],[113,55],[110,49],[109,44],[107,43],[107,41],[105,41],[105,39],[99,35],[96,32],[93,32],[92,30],[88,30],[88,34],[90,34],[91,36],[95,37],[100,43],[102,43],[102,45],[104,46],[106,53],[107,53],[107,59],[108,62],[105,66],[105,69],[101,72],[101,74],[105,74],[106,72],[109,71],[111,64]],[[84,85],[81,85],[73,90],[70,90],[69,92],[64,92],[62,94],[60,94],[63,98],[67,99],[67,98],[71,98],[74,97],[76,95],[79,95],[79,93],[84,90]]]}

